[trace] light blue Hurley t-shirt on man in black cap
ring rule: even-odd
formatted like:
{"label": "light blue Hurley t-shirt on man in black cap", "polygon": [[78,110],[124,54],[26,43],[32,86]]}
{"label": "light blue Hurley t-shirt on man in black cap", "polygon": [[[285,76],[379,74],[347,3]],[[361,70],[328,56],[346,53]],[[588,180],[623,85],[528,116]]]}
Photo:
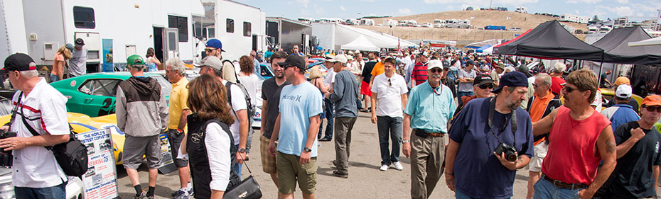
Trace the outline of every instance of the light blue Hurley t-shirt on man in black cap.
{"label": "light blue Hurley t-shirt on man in black cap", "polygon": [[[323,97],[316,86],[305,81],[284,86],[280,93],[280,134],[278,151],[301,155],[308,140],[310,117],[323,113]],[[317,157],[317,140],[312,144],[311,157]]]}

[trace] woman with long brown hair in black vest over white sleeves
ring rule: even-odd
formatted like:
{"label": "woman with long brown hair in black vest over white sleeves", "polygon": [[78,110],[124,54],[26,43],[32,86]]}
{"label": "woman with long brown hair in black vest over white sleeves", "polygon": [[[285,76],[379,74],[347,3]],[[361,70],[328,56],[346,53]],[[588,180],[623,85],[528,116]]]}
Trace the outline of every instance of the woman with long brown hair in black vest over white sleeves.
{"label": "woman with long brown hair in black vest over white sleeves", "polygon": [[[188,83],[188,136],[182,147],[190,161],[195,198],[222,198],[226,190],[240,182],[232,167],[237,147],[230,132],[234,116],[227,104],[222,82],[203,74]],[[213,157],[213,158],[210,158]]]}

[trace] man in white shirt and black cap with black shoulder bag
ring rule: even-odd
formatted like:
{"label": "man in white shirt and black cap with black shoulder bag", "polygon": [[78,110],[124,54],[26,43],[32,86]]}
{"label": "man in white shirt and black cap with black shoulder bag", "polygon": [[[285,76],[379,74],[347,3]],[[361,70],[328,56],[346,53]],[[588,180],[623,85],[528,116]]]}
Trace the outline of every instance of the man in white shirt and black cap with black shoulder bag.
{"label": "man in white shirt and black cap with black shoulder bag", "polygon": [[[1,166],[11,166],[16,198],[65,198],[67,176],[45,146],[69,140],[67,98],[38,76],[36,64],[28,55],[9,55],[1,72],[18,89],[11,99],[16,104],[14,117],[0,127],[2,153],[6,156],[9,154],[5,152],[11,151],[14,155],[3,159]],[[28,128],[39,135],[33,136]]]}

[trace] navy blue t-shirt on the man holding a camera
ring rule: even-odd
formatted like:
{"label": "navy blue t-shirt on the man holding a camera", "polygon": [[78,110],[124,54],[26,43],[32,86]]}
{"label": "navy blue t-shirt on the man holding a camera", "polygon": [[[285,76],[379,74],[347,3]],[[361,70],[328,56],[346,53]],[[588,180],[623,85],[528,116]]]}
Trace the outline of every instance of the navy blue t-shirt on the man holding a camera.
{"label": "navy blue t-shirt on the man holding a camera", "polygon": [[[471,198],[510,198],[516,171],[505,168],[493,154],[499,142],[490,132],[490,98],[475,98],[466,104],[450,127],[450,139],[461,144],[454,161],[455,188]],[[516,146],[519,155],[532,157],[530,115],[517,108]],[[514,144],[510,118],[512,113],[493,114],[493,130],[500,141]],[[500,125],[505,121],[505,130]]]}

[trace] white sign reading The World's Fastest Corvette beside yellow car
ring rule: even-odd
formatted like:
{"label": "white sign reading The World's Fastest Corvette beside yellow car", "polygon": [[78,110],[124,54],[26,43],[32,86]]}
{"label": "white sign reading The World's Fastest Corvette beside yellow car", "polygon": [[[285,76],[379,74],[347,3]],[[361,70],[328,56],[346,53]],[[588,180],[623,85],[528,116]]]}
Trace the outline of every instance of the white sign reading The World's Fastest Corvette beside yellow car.
{"label": "white sign reading The World's Fastest Corvette beside yellow car", "polygon": [[110,130],[105,128],[77,134],[76,137],[87,147],[87,173],[82,175],[84,198],[119,198],[117,189],[117,167]]}

